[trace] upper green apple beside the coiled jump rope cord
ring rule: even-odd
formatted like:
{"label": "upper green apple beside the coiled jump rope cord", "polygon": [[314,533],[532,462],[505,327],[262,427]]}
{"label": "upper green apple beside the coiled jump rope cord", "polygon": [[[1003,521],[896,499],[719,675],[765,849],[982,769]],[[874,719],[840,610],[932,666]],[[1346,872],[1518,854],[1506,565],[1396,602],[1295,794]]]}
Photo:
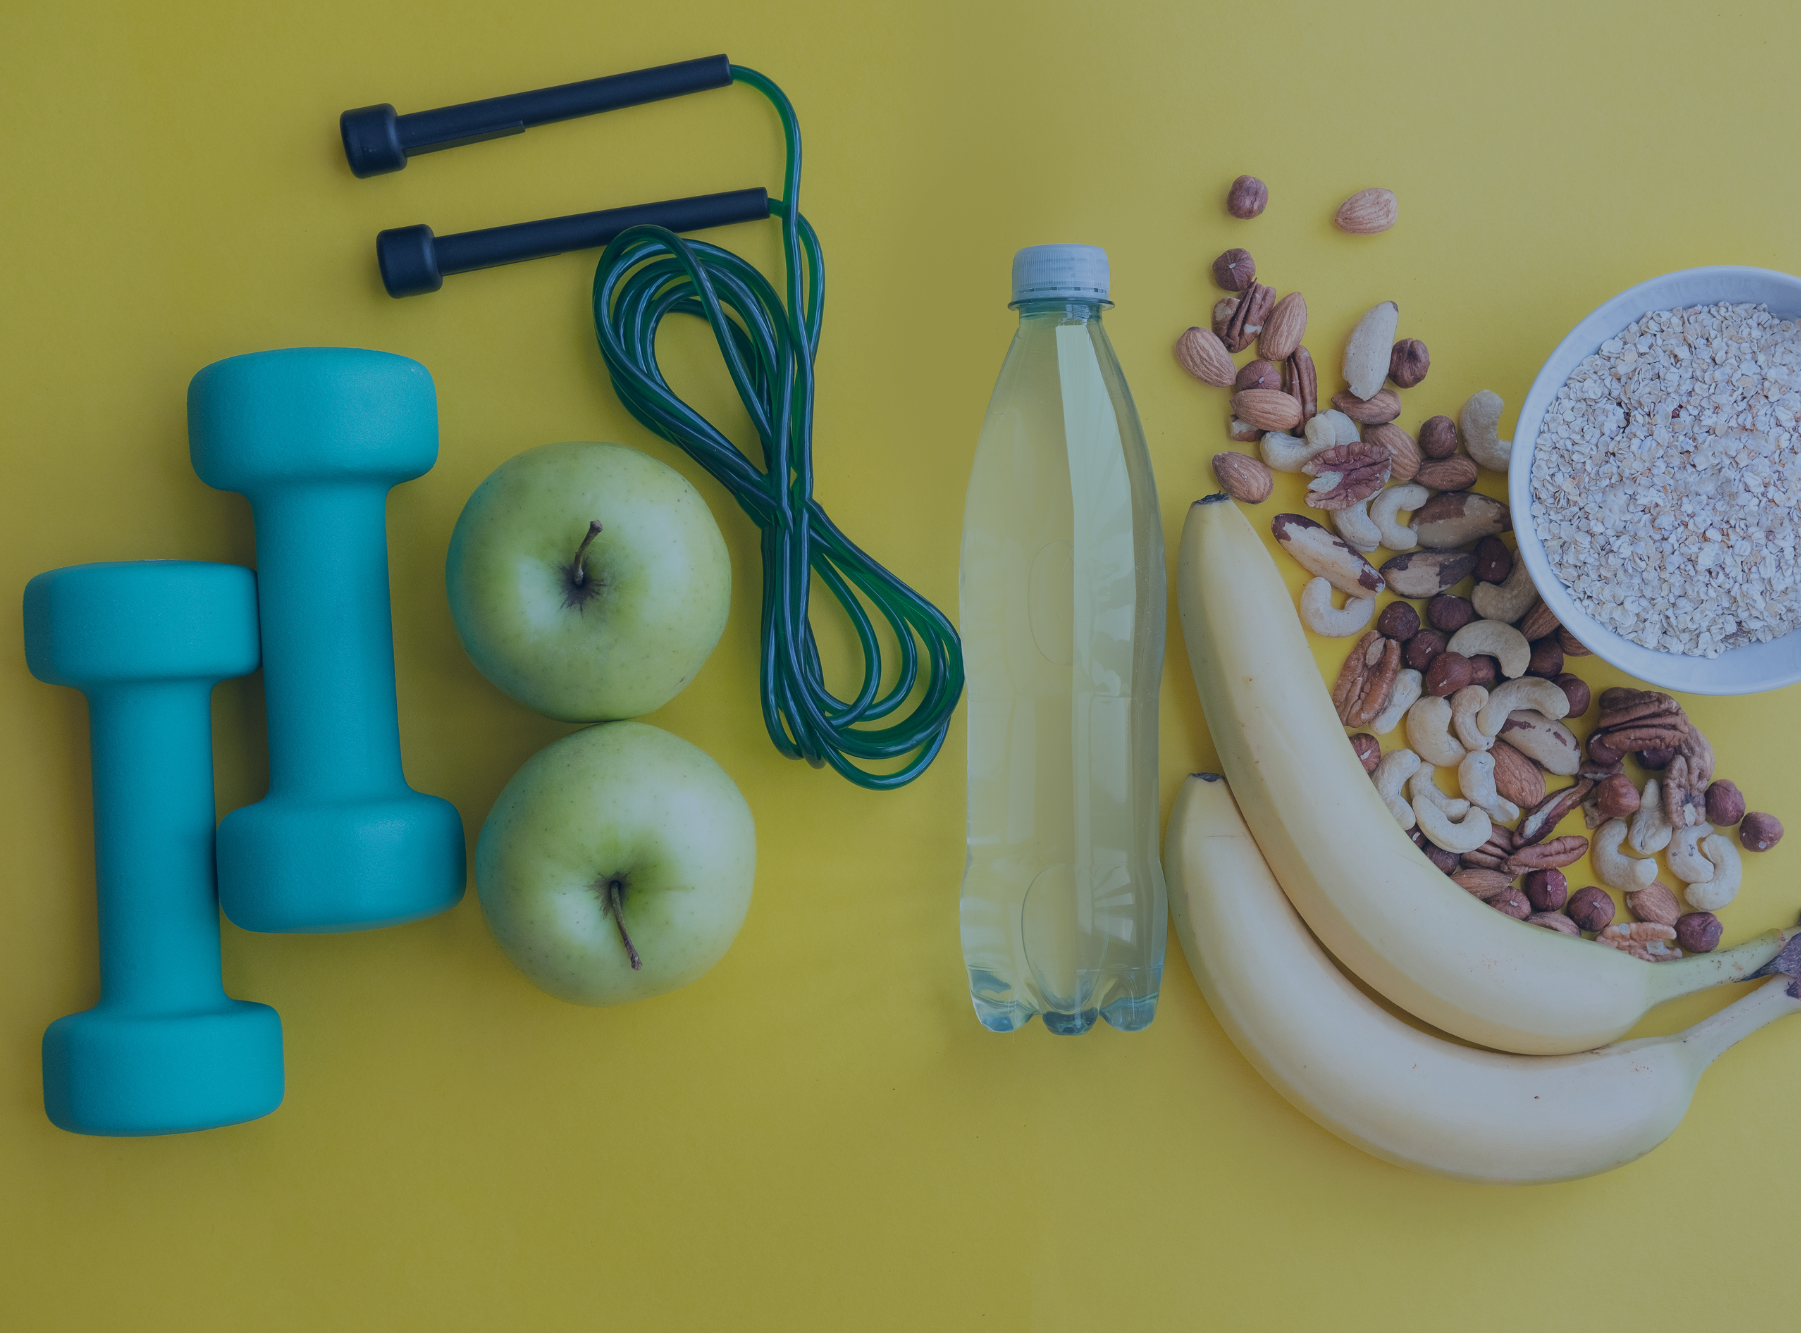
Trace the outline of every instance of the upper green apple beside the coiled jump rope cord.
{"label": "upper green apple beside the coiled jump rope cord", "polygon": [[540,445],[468,497],[445,560],[475,668],[548,717],[639,717],[674,699],[731,609],[701,492],[625,445]]}

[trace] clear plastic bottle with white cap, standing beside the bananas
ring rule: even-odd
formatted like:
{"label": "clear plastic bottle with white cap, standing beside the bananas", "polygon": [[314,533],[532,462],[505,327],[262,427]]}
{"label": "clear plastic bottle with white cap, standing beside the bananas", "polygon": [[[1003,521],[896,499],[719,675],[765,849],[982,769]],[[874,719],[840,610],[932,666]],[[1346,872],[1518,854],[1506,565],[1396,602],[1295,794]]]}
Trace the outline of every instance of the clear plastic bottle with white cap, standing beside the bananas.
{"label": "clear plastic bottle with white cap, standing beside the bananas", "polygon": [[1156,1014],[1163,526],[1100,324],[1108,256],[1014,256],[1019,312],[976,443],[958,578],[969,681],[962,935],[983,1027]]}

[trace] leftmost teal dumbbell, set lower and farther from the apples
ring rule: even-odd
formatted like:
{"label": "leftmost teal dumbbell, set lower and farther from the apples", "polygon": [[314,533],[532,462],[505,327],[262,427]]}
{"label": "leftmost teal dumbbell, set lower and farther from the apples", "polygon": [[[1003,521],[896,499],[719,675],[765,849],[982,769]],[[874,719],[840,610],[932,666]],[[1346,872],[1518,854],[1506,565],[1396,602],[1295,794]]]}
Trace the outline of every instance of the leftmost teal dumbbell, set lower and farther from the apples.
{"label": "leftmost teal dumbbell, set lower and farther from the apples", "polygon": [[83,564],[25,585],[25,663],[88,697],[101,1002],[43,1034],[63,1129],[166,1135],[281,1104],[281,1018],[220,984],[213,888],[218,681],[256,670],[256,576]]}

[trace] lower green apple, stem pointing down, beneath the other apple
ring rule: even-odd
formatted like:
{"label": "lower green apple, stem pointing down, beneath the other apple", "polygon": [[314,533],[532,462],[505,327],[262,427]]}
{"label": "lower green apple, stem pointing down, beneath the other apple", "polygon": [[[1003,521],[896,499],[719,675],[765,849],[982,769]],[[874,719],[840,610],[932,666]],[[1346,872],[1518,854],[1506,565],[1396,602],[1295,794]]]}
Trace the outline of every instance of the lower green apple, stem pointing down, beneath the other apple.
{"label": "lower green apple, stem pointing down, beneath the other apple", "polygon": [[531,982],[578,1005],[674,991],[744,924],[756,825],[726,771],[647,722],[607,722],[528,758],[475,843],[488,929]]}

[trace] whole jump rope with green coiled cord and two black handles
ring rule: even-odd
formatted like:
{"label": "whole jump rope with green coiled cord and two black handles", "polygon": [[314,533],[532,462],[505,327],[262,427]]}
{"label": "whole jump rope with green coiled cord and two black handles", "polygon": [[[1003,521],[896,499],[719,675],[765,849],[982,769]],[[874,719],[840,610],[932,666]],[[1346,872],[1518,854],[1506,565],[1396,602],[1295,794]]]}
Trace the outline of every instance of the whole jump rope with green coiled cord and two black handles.
{"label": "whole jump rope with green coiled cord and two black handles", "polygon": [[[825,312],[825,258],[800,211],[800,121],[782,88],[711,56],[411,115],[366,106],[344,112],[340,130],[351,169],[367,177],[398,171],[420,153],[728,83],[756,88],[782,121],[782,198],[746,189],[456,236],[398,227],[376,238],[376,259],[387,292],[398,297],[436,292],[445,274],[607,247],[594,272],[594,333],[614,393],[648,431],[706,468],[762,531],[758,674],[769,739],[789,758],[830,764],[859,787],[888,791],[917,778],[938,755],[964,690],[964,657],[944,612],[852,542],[812,497],[812,362]],[[785,301],[731,250],[677,234],[771,214],[782,222]],[[656,342],[672,313],[704,319],[713,330],[756,429],[762,467],[670,389]],[[863,685],[852,699],[825,683],[809,618],[810,575],[855,630]],[[899,643],[886,690],[881,638],[864,600]],[[902,712],[915,692],[917,701]],[[877,726],[884,719],[891,721]],[[893,771],[864,767],[902,757]]]}

